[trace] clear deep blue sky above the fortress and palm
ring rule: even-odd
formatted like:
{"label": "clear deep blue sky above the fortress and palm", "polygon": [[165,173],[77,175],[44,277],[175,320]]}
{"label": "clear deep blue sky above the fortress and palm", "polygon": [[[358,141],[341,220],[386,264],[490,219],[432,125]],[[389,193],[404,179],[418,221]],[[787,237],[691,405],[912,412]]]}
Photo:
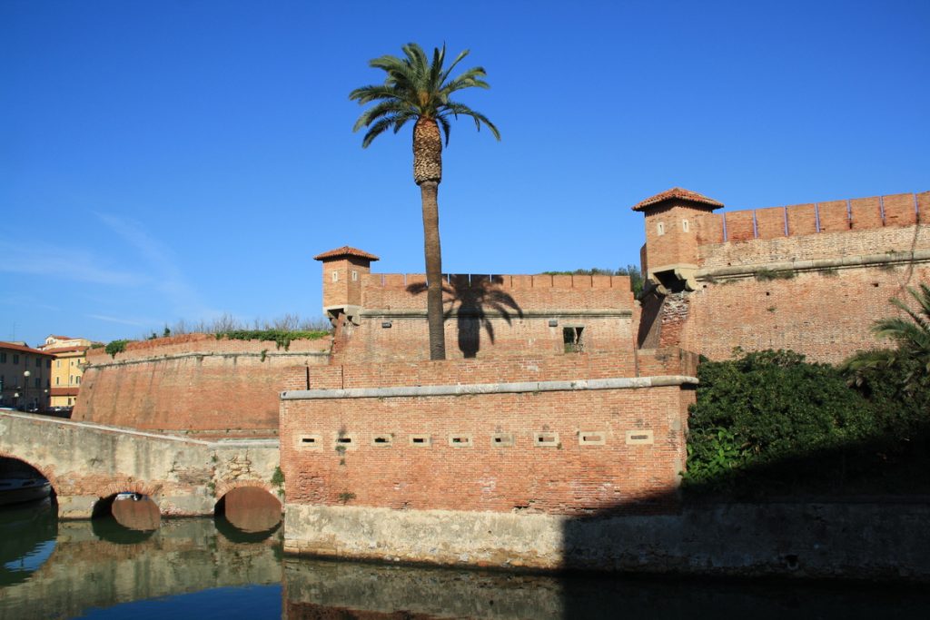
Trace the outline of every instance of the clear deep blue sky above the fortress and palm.
{"label": "clear deep blue sky above the fortress and palm", "polygon": [[0,339],[322,312],[350,244],[423,270],[408,128],[352,88],[409,41],[483,65],[453,127],[444,267],[637,263],[631,204],[930,189],[930,2],[0,0]]}

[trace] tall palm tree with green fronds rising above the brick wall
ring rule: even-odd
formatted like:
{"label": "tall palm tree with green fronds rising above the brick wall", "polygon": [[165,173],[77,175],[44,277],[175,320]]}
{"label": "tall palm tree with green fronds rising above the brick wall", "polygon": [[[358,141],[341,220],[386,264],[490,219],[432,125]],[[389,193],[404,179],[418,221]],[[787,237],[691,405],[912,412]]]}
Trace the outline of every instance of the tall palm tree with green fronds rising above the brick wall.
{"label": "tall palm tree with green fronds rising above the brick wall", "polygon": [[449,79],[458,62],[469,51],[458,54],[448,69],[445,62],[445,45],[433,48],[432,62],[416,43],[403,46],[404,58],[382,56],[368,62],[375,69],[387,73],[384,84],[362,86],[349,94],[349,99],[360,105],[377,103],[362,112],[352,131],[368,127],[362,147],[367,148],[376,139],[392,129],[396,134],[409,121],[413,127],[413,179],[419,185],[423,207],[423,249],[426,256],[427,320],[430,324],[430,359],[445,360],[445,334],[443,331],[443,262],[439,246],[439,183],[443,179],[443,139],[449,143],[449,117],[471,116],[479,130],[481,125],[500,139],[498,128],[484,114],[449,99],[458,90],[488,88],[485,70],[473,67],[458,77]]}

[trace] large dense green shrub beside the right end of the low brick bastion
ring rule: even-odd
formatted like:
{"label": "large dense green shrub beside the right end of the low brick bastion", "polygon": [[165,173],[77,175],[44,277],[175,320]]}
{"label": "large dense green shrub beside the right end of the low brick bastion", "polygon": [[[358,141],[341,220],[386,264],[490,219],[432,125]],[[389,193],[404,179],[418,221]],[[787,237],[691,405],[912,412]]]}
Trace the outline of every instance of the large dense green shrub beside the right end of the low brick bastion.
{"label": "large dense green shrub beside the right end of the low brick bastion", "polygon": [[[810,474],[802,461],[849,446],[874,430],[870,403],[847,387],[839,370],[807,363],[793,351],[701,363],[697,376],[686,486],[784,491]],[[844,469],[841,460],[819,473],[829,477],[833,469]]]}

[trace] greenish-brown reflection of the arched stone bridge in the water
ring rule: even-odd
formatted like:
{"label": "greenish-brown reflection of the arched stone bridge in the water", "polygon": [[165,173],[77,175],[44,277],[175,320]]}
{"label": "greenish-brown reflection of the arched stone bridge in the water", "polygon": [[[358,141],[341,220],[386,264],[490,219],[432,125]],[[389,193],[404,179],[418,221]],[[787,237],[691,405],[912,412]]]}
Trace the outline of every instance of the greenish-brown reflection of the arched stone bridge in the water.
{"label": "greenish-brown reflection of the arched stone bridge in the water", "polygon": [[[30,534],[31,526],[21,519],[0,514],[0,522],[10,528],[4,530],[4,541],[42,537]],[[45,535],[54,545],[47,560],[32,573],[0,584],[0,620],[71,618],[134,600],[281,583],[279,536],[233,542],[210,519],[166,520],[154,532],[133,532],[113,517],[102,517],[61,521],[57,538]],[[10,550],[10,555],[17,553]],[[5,561],[14,560],[5,556]],[[280,617],[280,606],[275,617]]]}

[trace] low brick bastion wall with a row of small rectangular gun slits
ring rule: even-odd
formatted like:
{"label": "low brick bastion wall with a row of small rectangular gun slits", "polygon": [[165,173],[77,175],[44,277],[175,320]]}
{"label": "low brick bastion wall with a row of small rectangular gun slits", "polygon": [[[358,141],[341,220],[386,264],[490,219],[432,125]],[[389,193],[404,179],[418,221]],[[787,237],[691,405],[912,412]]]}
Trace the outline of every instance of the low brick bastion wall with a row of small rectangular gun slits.
{"label": "low brick bastion wall with a row of small rectangular gun slits", "polygon": [[[652,376],[696,371],[694,356],[680,350],[641,357]],[[287,503],[668,510],[677,501],[694,392],[680,378],[636,377],[634,364],[628,350],[313,367],[315,390],[286,391],[282,400]],[[613,387],[597,382],[618,377],[631,378]],[[292,385],[302,381],[294,376]]]}

